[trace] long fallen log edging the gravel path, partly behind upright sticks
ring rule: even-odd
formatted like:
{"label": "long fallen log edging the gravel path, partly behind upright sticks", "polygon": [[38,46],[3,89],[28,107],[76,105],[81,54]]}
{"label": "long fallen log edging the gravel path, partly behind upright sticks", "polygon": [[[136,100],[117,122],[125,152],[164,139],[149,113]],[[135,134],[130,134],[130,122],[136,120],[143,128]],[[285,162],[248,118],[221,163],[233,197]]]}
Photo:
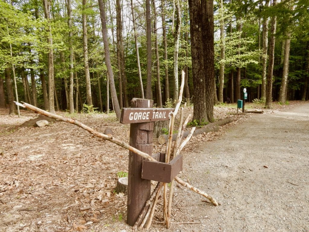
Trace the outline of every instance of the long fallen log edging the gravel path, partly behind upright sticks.
{"label": "long fallen log edging the gravel path, partly behind upright sticks", "polygon": [[[217,122],[211,122],[211,123],[207,124],[206,126],[195,130],[194,133],[193,133],[193,136],[203,134],[204,132],[208,133],[210,131],[218,131],[219,128],[220,128],[219,126],[222,126],[226,123],[232,122],[233,120],[234,120],[233,117],[227,117],[227,118],[223,118],[221,120],[218,120]],[[189,134],[190,134],[190,131],[185,131],[183,138],[186,138]],[[176,137],[177,137],[177,134],[173,134],[172,140],[173,141],[176,140]],[[159,136],[159,144],[166,144],[167,140],[168,140],[168,135],[160,135]]]}

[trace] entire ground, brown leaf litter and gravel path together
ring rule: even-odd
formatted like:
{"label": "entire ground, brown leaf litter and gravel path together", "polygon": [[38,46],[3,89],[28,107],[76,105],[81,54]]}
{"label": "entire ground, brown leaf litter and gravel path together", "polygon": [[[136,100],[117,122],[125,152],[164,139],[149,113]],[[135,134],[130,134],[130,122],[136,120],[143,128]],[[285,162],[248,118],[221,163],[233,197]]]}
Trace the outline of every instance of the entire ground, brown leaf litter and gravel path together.
{"label": "entire ground, brown leaf litter and gravel path together", "polygon": [[[232,115],[219,131],[189,141],[179,176],[221,205],[176,185],[170,229],[159,223],[159,199],[149,231],[309,231],[309,103],[273,106],[264,114]],[[231,116],[236,104],[214,112],[215,119]],[[30,111],[21,110],[21,118],[7,114],[0,110],[1,232],[131,231],[126,196],[114,193],[117,173],[128,171],[127,150],[65,122],[19,127],[38,116]],[[73,118],[100,132],[110,127],[129,142],[129,125],[115,114]],[[154,153],[164,150],[154,140]]]}

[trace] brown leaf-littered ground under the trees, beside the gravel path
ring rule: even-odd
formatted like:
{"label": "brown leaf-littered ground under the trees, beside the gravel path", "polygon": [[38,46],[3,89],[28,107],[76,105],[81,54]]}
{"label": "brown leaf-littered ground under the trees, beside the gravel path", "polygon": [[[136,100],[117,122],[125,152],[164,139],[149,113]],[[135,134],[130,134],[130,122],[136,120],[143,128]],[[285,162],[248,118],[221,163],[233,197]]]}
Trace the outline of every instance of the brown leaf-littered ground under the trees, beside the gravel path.
{"label": "brown leaf-littered ground under the trees, beside the gravel path", "polygon": [[[291,101],[290,105],[274,103],[273,109],[264,114],[301,104],[301,101]],[[262,107],[246,104],[250,110],[264,110]],[[231,112],[236,112],[235,104],[215,106],[214,118],[229,117]],[[64,112],[57,113],[70,117]],[[193,114],[192,107],[185,108],[184,117],[188,114]],[[244,123],[250,115],[233,115],[235,120],[219,131],[192,137],[182,152],[184,173],[180,176],[190,183],[185,169],[190,167],[189,160],[195,162],[195,154],[200,152],[201,146],[217,140],[236,124]],[[37,116],[21,110],[21,118],[18,118],[8,115],[8,110],[0,110],[0,231],[130,231],[131,227],[126,225],[126,195],[114,193],[117,174],[128,171],[128,151],[65,122],[56,121],[46,127],[19,127]],[[115,114],[73,114],[73,118],[100,132],[112,128],[114,137],[129,142],[126,136],[129,124],[120,124]],[[153,148],[156,153],[164,151],[165,145],[155,139]],[[207,185],[197,187],[216,198],[216,192]],[[184,224],[182,231],[202,231],[190,229],[192,225],[200,226],[193,220],[198,216],[182,211],[182,202],[188,201],[193,193],[178,184],[174,192],[172,222],[192,222]],[[202,203],[205,209],[214,207]],[[163,224],[158,222],[163,217],[162,204],[163,199],[159,198],[159,209],[150,231],[164,230]],[[193,215],[198,213],[193,209]],[[168,231],[175,231],[173,224]]]}

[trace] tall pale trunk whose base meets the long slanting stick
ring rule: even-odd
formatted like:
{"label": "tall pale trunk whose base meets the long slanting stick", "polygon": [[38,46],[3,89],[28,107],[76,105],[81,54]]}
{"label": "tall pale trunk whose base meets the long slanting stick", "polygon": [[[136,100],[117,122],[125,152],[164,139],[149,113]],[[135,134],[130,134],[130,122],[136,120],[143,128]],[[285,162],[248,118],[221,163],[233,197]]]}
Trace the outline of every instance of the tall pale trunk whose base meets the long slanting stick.
{"label": "tall pale trunk whose base meets the long slanting stick", "polygon": [[51,0],[43,0],[44,15],[48,21],[48,32],[49,36],[47,38],[47,43],[49,44],[48,53],[48,102],[49,102],[49,112],[55,114],[54,106],[54,55],[53,55],[53,35],[52,26],[50,22],[50,8]]}

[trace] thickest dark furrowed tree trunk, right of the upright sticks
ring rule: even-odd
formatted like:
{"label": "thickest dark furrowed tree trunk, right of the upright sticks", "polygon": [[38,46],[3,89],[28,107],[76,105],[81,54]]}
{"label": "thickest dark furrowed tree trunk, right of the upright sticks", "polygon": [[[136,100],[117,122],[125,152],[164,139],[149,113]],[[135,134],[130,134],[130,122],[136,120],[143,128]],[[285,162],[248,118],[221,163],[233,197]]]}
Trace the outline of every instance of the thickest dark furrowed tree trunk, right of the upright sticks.
{"label": "thickest dark furrowed tree trunk, right of the upright sticks", "polygon": [[189,0],[193,120],[214,118],[214,2]]}

